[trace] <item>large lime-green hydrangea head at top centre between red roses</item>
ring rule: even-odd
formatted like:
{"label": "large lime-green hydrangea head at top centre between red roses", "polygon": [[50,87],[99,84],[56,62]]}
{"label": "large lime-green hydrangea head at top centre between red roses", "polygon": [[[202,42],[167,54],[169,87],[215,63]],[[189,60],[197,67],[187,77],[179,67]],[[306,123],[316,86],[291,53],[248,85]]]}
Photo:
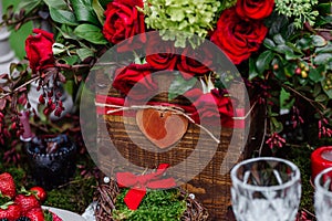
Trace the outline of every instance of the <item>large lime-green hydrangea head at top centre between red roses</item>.
{"label": "large lime-green hydrangea head at top centre between red roses", "polygon": [[147,27],[158,30],[164,40],[196,48],[214,28],[220,6],[217,0],[144,0],[143,12]]}

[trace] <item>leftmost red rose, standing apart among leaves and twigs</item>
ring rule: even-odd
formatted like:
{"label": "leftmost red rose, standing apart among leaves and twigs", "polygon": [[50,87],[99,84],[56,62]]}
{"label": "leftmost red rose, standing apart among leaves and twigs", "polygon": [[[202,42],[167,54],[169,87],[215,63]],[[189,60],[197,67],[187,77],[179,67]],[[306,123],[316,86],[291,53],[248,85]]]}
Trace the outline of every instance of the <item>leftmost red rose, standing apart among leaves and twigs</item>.
{"label": "leftmost red rose, standing apart among leaves and twigs", "polygon": [[40,29],[33,29],[34,35],[25,40],[25,52],[33,73],[54,66],[52,45],[53,34]]}

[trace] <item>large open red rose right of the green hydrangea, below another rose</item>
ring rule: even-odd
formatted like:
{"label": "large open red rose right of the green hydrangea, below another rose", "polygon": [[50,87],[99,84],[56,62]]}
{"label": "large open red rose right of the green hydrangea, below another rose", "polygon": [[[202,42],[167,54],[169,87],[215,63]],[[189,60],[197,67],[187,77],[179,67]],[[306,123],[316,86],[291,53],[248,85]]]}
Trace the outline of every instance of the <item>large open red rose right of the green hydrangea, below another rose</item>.
{"label": "large open red rose right of the green hydrangea, below another rose", "polygon": [[245,21],[235,8],[227,9],[217,22],[211,42],[218,45],[235,64],[247,60],[263,42],[268,28],[261,21]]}

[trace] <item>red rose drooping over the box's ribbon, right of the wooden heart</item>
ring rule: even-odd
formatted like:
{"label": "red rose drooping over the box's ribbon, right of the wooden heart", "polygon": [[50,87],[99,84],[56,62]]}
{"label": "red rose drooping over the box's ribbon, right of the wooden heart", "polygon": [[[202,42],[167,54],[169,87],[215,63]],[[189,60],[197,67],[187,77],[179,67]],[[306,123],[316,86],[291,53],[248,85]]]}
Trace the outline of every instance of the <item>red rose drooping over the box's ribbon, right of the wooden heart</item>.
{"label": "red rose drooping over the box's ribbon, right of the wooden heart", "polygon": [[203,94],[193,104],[198,112],[193,114],[195,122],[204,122],[207,125],[215,125],[216,119],[220,118],[221,126],[234,126],[234,108],[231,99],[224,96],[218,90]]}

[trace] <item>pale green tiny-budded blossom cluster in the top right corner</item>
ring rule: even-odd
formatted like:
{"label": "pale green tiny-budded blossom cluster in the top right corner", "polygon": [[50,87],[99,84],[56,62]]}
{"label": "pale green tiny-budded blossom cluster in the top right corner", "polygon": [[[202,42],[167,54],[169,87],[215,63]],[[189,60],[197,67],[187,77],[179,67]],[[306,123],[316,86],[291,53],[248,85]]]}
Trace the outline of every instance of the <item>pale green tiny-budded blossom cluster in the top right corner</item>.
{"label": "pale green tiny-budded blossom cluster in the top right corner", "polygon": [[318,0],[276,0],[276,9],[280,14],[294,18],[294,25],[301,29],[304,22],[314,24],[319,12],[313,10]]}

